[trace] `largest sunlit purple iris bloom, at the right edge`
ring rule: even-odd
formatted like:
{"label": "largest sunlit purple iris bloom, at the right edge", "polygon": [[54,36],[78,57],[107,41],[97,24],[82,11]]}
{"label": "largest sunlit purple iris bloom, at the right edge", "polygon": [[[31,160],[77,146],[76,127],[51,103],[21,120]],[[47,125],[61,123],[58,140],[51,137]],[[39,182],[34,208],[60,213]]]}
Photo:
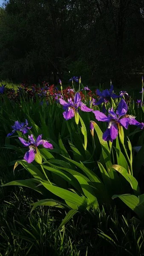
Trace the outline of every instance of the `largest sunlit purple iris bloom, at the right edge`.
{"label": "largest sunlit purple iris bloom, at the right edge", "polygon": [[100,111],[93,111],[95,118],[98,121],[108,122],[108,128],[103,134],[103,140],[110,140],[111,142],[116,139],[118,136],[118,127],[122,125],[124,128],[128,128],[128,125],[136,125],[139,128],[143,129],[144,123],[139,123],[135,120],[135,116],[127,114],[127,104],[124,99],[121,99],[121,102],[118,104],[116,113],[113,111],[113,108],[109,109],[108,116]]}

